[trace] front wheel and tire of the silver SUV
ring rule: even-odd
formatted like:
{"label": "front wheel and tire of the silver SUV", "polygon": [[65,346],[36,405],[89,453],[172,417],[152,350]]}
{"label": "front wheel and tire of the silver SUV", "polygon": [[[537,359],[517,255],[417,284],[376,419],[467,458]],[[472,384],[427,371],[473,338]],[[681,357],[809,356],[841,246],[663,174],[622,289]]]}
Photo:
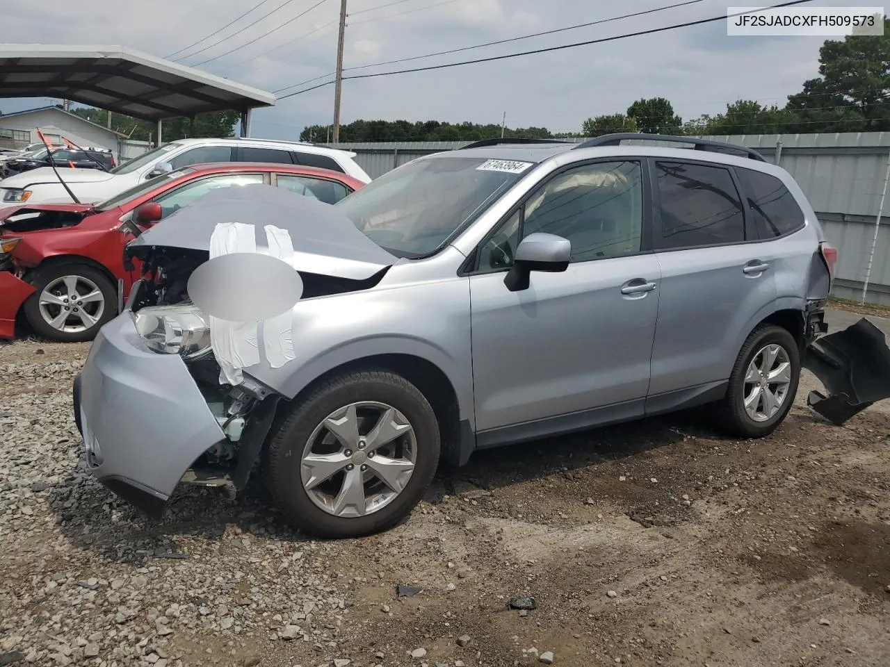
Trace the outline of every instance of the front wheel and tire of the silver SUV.
{"label": "front wheel and tire of the silver SUV", "polygon": [[440,449],[417,387],[392,373],[347,374],[287,414],[269,444],[267,480],[289,523],[319,537],[359,537],[410,513]]}

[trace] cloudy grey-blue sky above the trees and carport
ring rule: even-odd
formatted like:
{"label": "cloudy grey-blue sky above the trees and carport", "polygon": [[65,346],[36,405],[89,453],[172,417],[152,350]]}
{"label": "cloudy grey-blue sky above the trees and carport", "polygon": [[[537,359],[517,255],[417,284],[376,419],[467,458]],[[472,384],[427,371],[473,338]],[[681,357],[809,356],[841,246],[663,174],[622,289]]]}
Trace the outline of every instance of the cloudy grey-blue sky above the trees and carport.
{"label": "cloudy grey-blue sky above the trees and carport", "polygon": [[[682,1],[348,0],[344,76],[530,51],[726,13],[727,4],[700,0],[549,36],[364,67]],[[252,4],[243,18],[210,36]],[[815,0],[808,5],[861,4]],[[295,140],[305,125],[333,122],[333,84],[280,97],[333,79],[339,9],[339,0],[29,0],[4,7],[4,36],[21,44],[120,44],[280,91],[273,108],[255,112],[252,134]],[[506,114],[508,127],[578,132],[586,118],[624,112],[643,97],[667,98],[684,119],[719,113],[739,99],[781,106],[807,78],[818,75],[819,47],[825,39],[727,36],[721,20],[506,60],[346,80],[341,123],[404,119],[500,124]],[[190,46],[198,40],[203,41]],[[311,84],[287,88],[317,77]],[[58,102],[4,99],[0,109],[8,113]]]}

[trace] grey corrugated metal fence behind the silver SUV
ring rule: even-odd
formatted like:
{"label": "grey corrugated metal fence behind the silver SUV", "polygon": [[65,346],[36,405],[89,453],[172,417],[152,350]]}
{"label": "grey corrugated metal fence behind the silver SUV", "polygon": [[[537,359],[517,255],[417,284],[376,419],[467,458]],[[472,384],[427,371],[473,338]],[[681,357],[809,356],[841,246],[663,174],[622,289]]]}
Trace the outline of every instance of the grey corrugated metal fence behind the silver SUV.
{"label": "grey corrugated metal fence behind the silver SUV", "polygon": [[[761,152],[787,169],[809,198],[839,251],[834,295],[859,299],[875,232],[890,133],[761,134],[707,137]],[[565,141],[583,141],[565,140]],[[464,147],[469,141],[341,143],[356,162],[377,178],[399,165],[431,153]],[[890,306],[890,198],[882,214],[878,245],[869,280],[868,301]]]}

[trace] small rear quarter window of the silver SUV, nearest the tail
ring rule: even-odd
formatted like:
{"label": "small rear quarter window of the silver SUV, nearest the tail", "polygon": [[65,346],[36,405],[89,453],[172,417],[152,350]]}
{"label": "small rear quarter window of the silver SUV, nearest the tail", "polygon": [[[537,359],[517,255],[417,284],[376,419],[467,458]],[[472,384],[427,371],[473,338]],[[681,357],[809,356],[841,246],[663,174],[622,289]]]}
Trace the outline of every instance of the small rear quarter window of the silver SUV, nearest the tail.
{"label": "small rear quarter window of the silver SUV, nearest the tail", "polygon": [[784,183],[768,173],[736,168],[748,215],[759,238],[781,237],[804,226],[804,212]]}

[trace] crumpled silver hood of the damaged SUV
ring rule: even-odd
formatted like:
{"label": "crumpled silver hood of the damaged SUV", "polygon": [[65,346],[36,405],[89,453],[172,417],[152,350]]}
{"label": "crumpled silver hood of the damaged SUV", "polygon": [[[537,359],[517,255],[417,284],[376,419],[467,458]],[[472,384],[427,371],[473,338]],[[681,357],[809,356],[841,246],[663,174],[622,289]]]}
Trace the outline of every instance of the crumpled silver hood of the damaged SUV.
{"label": "crumpled silver hood of the damaged SUV", "polygon": [[198,197],[127,244],[126,254],[139,256],[152,247],[209,253],[210,237],[224,222],[254,226],[258,248],[266,245],[265,225],[286,229],[294,245],[290,263],[307,273],[364,280],[401,261],[336,206],[269,185],[220,188]]}

